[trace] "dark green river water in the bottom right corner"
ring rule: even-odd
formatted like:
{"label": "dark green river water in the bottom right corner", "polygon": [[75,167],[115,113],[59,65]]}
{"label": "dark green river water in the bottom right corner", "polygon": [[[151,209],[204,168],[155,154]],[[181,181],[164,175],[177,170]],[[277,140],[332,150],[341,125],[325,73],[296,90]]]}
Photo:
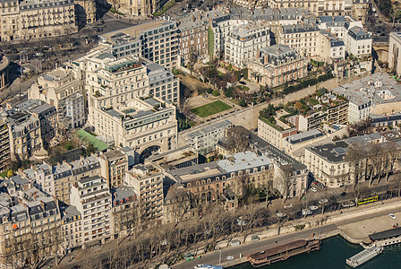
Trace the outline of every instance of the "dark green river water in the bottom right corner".
{"label": "dark green river water in the bottom right corner", "polygon": [[[284,262],[278,262],[273,265],[266,265],[258,268],[262,269],[337,269],[351,268],[346,265],[346,258],[354,256],[362,251],[363,247],[348,243],[346,239],[340,236],[324,239],[320,250],[313,251],[310,254],[292,256]],[[232,269],[251,269],[250,263],[235,265]],[[372,258],[370,261],[357,267],[358,269],[393,269],[401,268],[401,244],[385,247],[383,253]]]}

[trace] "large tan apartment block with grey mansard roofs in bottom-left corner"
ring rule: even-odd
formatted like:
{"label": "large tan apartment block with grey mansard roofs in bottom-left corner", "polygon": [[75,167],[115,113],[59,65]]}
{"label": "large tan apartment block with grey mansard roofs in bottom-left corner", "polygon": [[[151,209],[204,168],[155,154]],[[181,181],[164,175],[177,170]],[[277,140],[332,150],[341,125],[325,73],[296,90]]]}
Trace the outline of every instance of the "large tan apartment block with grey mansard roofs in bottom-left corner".
{"label": "large tan apartment block with grey mansard roofs in bottom-left corner", "polygon": [[0,194],[0,260],[7,268],[25,265],[32,253],[54,257],[62,242],[60,209],[48,197],[19,176],[4,180]]}

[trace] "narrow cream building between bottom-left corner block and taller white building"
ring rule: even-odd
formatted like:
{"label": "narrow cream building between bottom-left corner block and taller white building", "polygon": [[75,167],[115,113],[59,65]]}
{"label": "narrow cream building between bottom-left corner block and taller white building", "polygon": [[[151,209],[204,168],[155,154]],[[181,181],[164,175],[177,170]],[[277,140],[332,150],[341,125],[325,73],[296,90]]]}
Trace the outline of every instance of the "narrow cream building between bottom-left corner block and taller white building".
{"label": "narrow cream building between bottom-left corner block and taller white building", "polygon": [[73,205],[67,205],[61,211],[61,235],[63,253],[67,254],[76,247],[83,245],[83,230],[81,213]]}

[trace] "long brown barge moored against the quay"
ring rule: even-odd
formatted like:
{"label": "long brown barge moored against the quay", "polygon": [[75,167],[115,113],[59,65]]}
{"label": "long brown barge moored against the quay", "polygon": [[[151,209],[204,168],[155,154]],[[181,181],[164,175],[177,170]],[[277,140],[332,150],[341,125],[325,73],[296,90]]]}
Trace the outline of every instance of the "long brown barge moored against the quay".
{"label": "long brown barge moored against the quay", "polygon": [[285,261],[290,256],[301,253],[310,253],[320,249],[320,240],[296,240],[277,247],[269,247],[264,251],[251,254],[250,262],[253,267],[271,265],[279,261]]}

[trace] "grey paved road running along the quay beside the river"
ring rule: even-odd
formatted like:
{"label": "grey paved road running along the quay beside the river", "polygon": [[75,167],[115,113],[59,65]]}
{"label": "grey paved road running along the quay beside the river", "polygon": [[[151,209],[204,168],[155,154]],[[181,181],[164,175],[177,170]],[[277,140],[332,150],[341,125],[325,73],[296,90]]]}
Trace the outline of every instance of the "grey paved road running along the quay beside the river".
{"label": "grey paved road running along the quay beside the river", "polygon": [[[301,230],[295,233],[289,233],[281,236],[277,236],[272,239],[264,239],[260,240],[259,242],[252,242],[247,243],[244,245],[240,245],[238,247],[227,247],[221,250],[221,257],[222,261],[226,261],[227,256],[234,256],[238,258],[240,254],[243,256],[249,256],[250,254],[260,251],[263,248],[273,247],[280,244],[285,244],[287,242],[293,241],[294,239],[307,239],[311,237],[311,233],[315,233],[315,236],[318,236],[323,233],[328,233],[331,231],[337,230],[337,226],[346,225],[350,223],[354,223],[356,221],[364,221],[369,220],[371,218],[376,218],[384,215],[388,215],[388,213],[399,213],[401,212],[401,208],[397,210],[385,210],[380,213],[372,213],[365,215],[363,217],[358,217],[357,219],[346,220],[346,221],[339,221],[336,224],[328,224],[323,225],[317,228],[312,228],[308,230]],[[277,241],[277,243],[276,243]],[[211,265],[218,265],[219,262],[220,251],[215,251],[214,253],[207,254],[205,256],[201,256],[200,259],[195,259],[190,262],[183,262],[178,265],[174,265],[174,269],[189,269],[193,268],[194,265],[198,264],[211,264]]]}

